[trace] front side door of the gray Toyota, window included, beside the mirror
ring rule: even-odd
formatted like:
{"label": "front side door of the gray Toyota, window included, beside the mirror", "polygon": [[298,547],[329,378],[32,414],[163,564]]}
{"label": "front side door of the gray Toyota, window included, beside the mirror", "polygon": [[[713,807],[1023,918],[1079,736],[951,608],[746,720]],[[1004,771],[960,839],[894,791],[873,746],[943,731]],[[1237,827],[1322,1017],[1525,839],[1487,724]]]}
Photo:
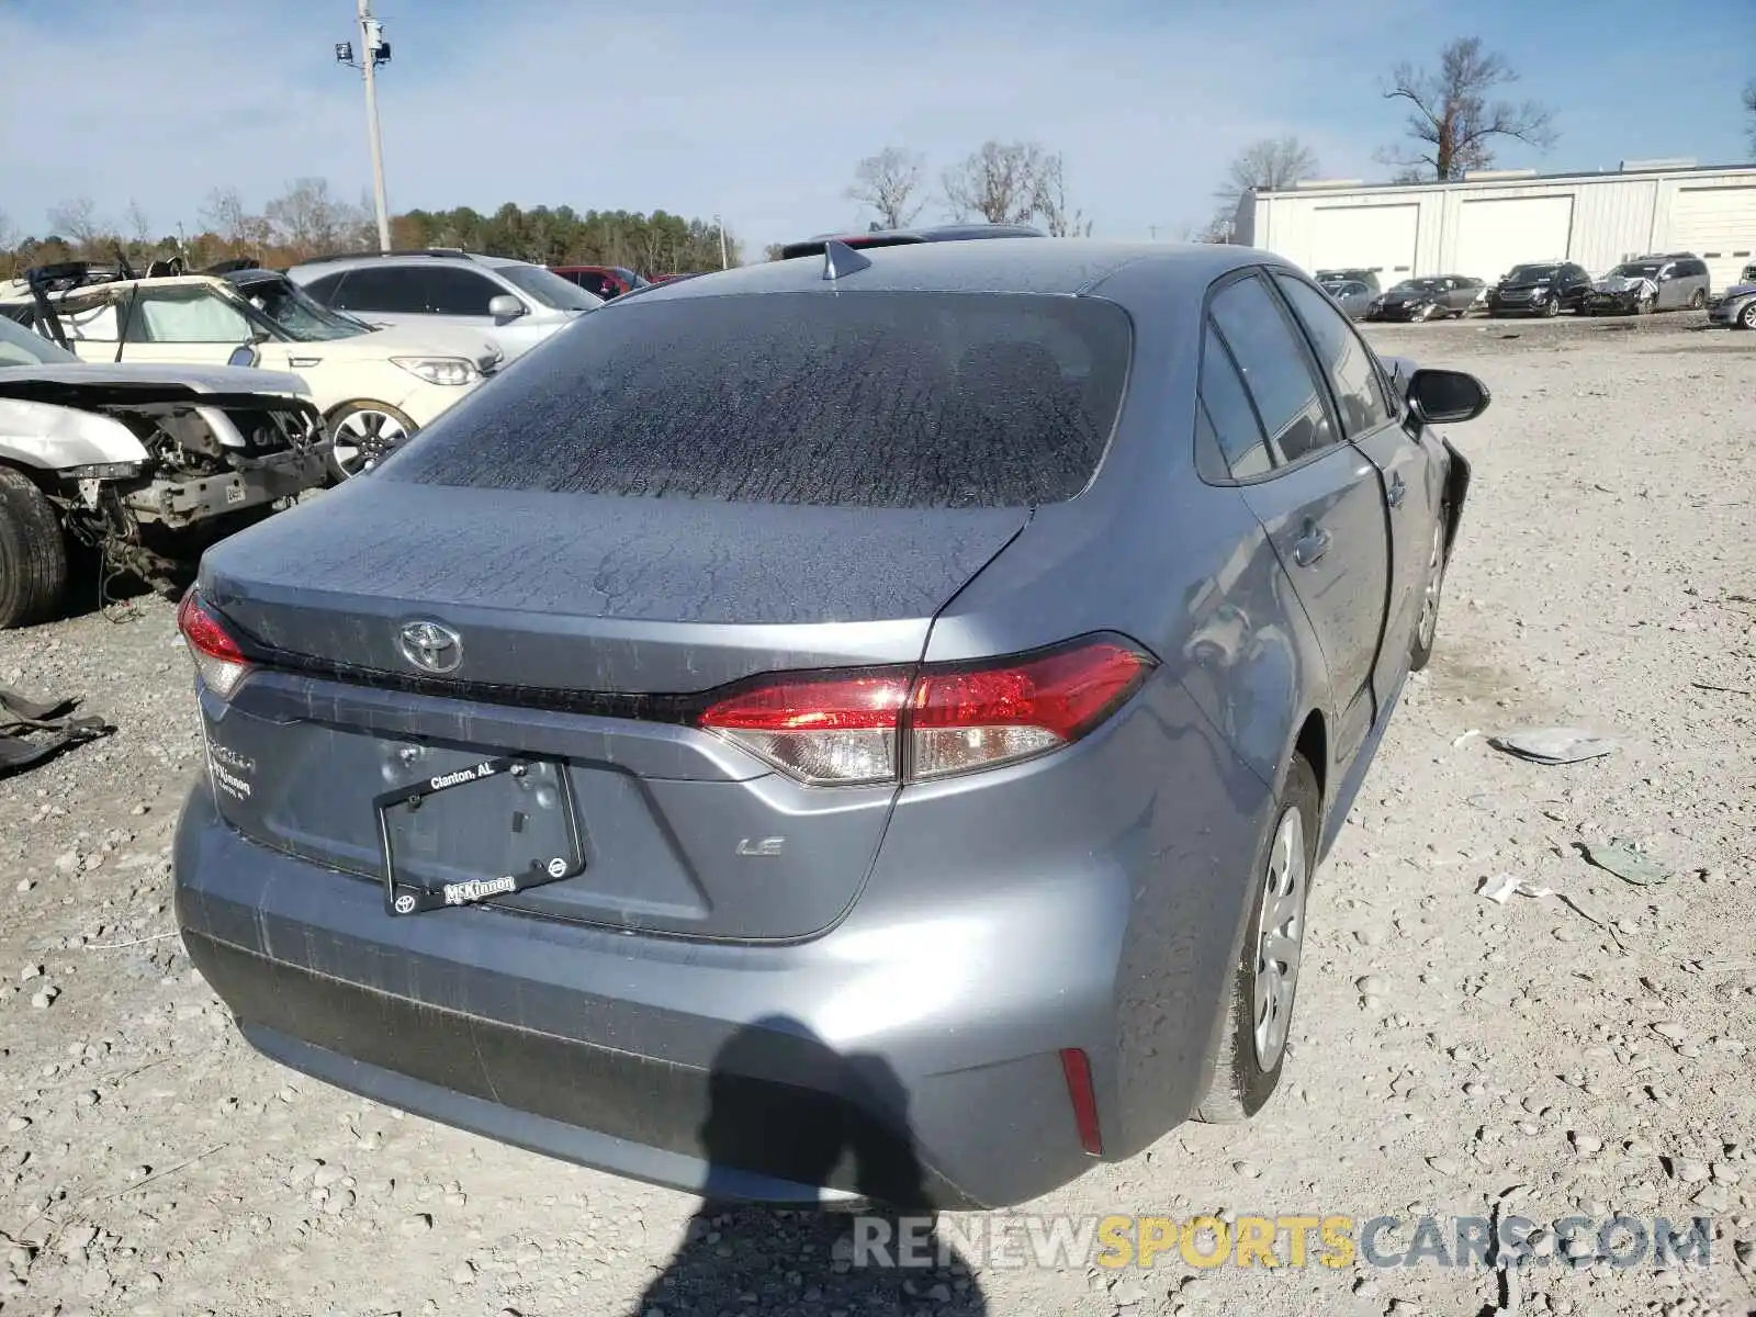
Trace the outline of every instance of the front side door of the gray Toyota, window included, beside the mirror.
{"label": "front side door of the gray Toyota, window included, beside the mirror", "polygon": [[1415,634],[1421,615],[1433,529],[1438,525],[1438,469],[1431,462],[1428,441],[1401,425],[1401,407],[1354,327],[1336,316],[1303,279],[1277,274],[1275,283],[1322,365],[1347,441],[1371,458],[1384,485],[1389,601],[1384,643],[1373,662],[1373,692],[1382,706],[1403,680],[1408,666],[1405,637]]}

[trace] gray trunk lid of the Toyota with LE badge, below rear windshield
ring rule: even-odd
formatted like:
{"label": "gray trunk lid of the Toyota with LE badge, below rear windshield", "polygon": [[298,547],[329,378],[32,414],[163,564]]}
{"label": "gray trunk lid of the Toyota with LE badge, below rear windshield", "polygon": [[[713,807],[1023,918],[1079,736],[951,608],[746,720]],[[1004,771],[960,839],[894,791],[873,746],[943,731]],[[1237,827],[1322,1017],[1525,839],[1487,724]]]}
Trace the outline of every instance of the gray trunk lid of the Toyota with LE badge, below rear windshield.
{"label": "gray trunk lid of the Toyota with LE badge, below rear windshield", "polygon": [[[697,938],[810,936],[859,894],[896,787],[804,787],[678,718],[604,711],[764,671],[915,662],[932,616],[1027,518],[349,481],[204,560],[202,595],[288,664],[230,704],[204,694],[214,799],[246,836],[381,883],[374,797],[529,757],[541,767],[525,795],[497,781],[434,797],[444,811],[399,878],[499,876],[527,860],[502,855],[511,832],[555,850],[565,815],[583,869],[493,904]],[[397,637],[411,618],[462,637],[443,678],[455,690],[409,688],[420,674]]]}

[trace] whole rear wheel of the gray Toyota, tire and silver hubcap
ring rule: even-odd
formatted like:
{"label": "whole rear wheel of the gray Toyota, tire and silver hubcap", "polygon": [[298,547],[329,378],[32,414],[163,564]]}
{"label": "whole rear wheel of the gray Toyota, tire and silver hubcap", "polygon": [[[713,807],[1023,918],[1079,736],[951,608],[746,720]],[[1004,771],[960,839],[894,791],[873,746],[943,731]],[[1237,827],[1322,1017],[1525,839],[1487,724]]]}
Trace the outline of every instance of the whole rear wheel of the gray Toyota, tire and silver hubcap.
{"label": "whole rear wheel of the gray Toyota, tire and silver hubcap", "polygon": [[1233,1124],[1256,1115],[1280,1083],[1305,959],[1305,901],[1317,867],[1317,774],[1296,757],[1275,811],[1268,850],[1257,860],[1256,910],[1226,1001],[1213,1087],[1196,1119]]}

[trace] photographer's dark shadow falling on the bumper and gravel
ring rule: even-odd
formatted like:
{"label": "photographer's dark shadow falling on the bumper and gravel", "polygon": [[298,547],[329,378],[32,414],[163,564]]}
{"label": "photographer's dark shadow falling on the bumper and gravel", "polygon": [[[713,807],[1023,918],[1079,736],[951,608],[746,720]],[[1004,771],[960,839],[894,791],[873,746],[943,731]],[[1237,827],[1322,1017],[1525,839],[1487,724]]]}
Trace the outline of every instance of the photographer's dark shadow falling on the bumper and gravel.
{"label": "photographer's dark shadow falling on the bumper and gravel", "polygon": [[[801,1069],[811,1087],[788,1087]],[[860,1101],[825,1101],[825,1080]],[[932,1229],[908,1094],[880,1057],[783,1017],[745,1026],[715,1057],[701,1147],[701,1208],[630,1317],[987,1313]]]}

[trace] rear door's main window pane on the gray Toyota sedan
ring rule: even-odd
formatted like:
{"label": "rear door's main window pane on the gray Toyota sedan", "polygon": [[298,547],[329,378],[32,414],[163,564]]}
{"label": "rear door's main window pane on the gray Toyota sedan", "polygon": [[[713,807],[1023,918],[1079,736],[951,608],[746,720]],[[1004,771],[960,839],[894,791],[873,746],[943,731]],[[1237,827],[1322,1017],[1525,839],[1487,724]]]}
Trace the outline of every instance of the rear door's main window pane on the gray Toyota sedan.
{"label": "rear door's main window pane on the gray Toyota sedan", "polygon": [[1226,284],[1212,304],[1277,464],[1298,462],[1336,443],[1322,390],[1296,330],[1256,276]]}

